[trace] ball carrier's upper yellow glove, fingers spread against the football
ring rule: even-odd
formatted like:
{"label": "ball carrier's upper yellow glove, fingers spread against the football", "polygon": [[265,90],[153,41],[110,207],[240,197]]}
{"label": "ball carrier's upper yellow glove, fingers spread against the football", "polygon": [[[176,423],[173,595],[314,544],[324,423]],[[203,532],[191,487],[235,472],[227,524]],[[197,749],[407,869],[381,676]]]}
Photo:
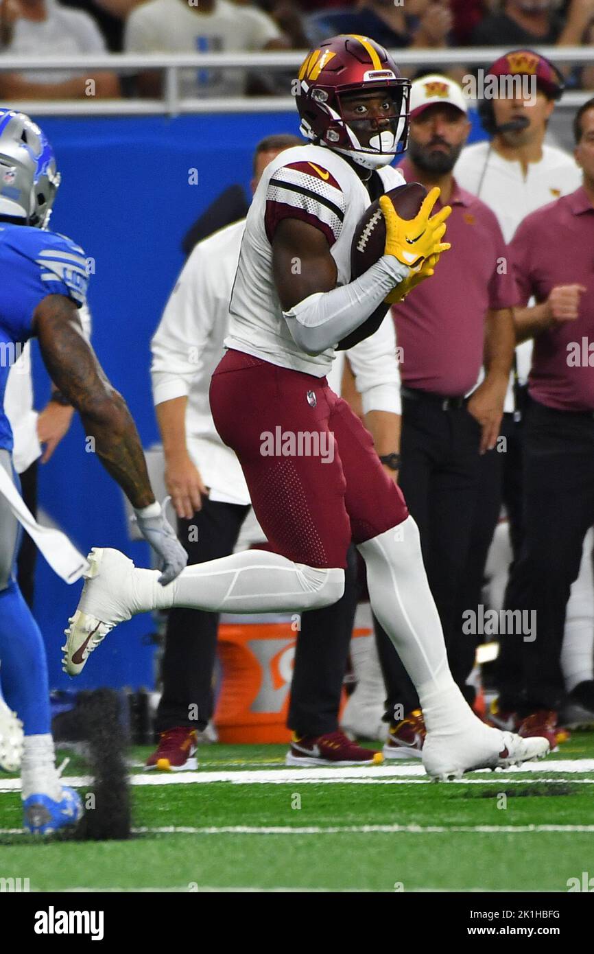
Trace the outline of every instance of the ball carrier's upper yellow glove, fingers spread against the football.
{"label": "ball carrier's upper yellow glove, fingers spread against the football", "polygon": [[384,255],[393,255],[413,272],[420,272],[424,259],[447,251],[449,243],[441,239],[445,235],[445,219],[450,215],[451,207],[444,205],[437,215],[429,218],[439,197],[440,190],[436,186],[423,199],[416,217],[411,219],[400,218],[387,196],[379,199],[386,223]]}

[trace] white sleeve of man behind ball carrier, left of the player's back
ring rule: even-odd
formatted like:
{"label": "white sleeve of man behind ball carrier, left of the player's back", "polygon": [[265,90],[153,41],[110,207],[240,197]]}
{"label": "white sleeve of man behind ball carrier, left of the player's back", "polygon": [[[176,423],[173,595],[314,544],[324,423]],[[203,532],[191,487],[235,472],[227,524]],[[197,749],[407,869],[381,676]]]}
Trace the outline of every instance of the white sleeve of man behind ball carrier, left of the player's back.
{"label": "white sleeve of man behind ball carrier, left of the player's back", "polygon": [[209,294],[212,267],[197,245],[165,306],[151,342],[155,406],[190,393],[215,320],[215,299]]}

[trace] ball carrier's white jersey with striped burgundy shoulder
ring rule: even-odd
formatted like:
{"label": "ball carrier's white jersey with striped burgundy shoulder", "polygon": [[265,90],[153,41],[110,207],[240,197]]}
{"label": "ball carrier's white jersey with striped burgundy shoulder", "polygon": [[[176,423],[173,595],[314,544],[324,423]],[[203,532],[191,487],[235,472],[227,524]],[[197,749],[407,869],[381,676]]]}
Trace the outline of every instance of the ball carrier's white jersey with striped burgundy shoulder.
{"label": "ball carrier's white jersey with striped burgundy shoulder", "polygon": [[[379,170],[387,192],[404,184],[397,169]],[[328,239],[337,263],[338,284],[351,280],[351,242],[355,227],[371,205],[353,167],[323,146],[296,146],[267,166],[248,212],[231,298],[228,348],[323,378],[334,348],[307,355],[293,341],[273,279],[272,240],[283,218],[310,222]],[[295,259],[296,270],[300,268]]]}

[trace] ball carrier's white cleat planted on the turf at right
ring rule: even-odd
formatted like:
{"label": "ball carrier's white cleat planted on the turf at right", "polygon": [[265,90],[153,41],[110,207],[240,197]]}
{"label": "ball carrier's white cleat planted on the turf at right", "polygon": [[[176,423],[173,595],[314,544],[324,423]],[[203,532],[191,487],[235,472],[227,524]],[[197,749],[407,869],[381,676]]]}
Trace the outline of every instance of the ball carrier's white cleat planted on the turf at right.
{"label": "ball carrier's white cleat planted on the turf at right", "polygon": [[461,778],[477,769],[509,768],[543,758],[550,751],[542,736],[522,738],[484,725],[479,719],[459,732],[428,732],[422,748],[425,772],[437,781]]}

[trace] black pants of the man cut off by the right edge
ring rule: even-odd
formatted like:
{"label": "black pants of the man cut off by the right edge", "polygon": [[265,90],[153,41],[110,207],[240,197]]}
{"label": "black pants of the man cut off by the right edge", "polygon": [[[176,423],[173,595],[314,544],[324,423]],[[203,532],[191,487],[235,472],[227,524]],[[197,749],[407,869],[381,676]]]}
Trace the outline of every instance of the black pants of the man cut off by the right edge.
{"label": "black pants of the man cut off by the right edge", "polygon": [[[523,446],[524,539],[506,608],[528,615],[502,637],[499,683],[502,709],[526,714],[557,710],[563,703],[565,607],[580,571],[585,533],[594,523],[594,416],[533,402]],[[532,612],[535,639],[527,632]]]}

